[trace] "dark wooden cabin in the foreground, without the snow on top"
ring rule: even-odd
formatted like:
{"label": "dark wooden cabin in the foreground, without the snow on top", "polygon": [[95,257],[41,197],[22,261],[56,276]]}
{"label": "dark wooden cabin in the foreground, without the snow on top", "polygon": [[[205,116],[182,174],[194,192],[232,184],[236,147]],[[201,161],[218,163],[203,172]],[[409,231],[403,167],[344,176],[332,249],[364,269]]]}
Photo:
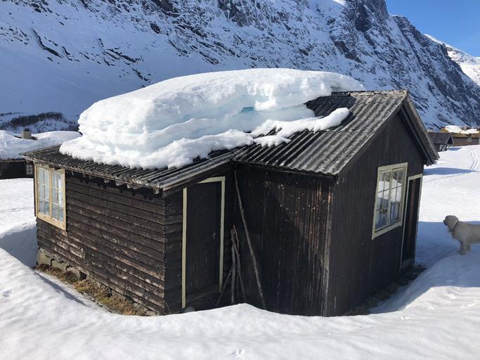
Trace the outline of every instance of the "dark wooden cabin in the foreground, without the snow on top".
{"label": "dark wooden cabin in the foreground, without the snow on top", "polygon": [[[237,262],[245,302],[348,313],[413,264],[423,167],[438,154],[407,91],[306,105],[316,116],[350,114],[328,131],[178,169],[102,165],[58,147],[26,153],[39,261],[63,262],[159,314],[216,306]],[[221,304],[229,299],[227,290]]]}

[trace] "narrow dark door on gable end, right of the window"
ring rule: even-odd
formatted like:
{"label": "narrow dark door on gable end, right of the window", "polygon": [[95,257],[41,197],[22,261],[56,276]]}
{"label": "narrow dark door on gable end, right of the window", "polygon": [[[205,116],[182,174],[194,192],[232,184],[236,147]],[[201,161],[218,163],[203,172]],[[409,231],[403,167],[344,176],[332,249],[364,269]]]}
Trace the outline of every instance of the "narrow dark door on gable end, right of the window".
{"label": "narrow dark door on gable end, right of the window", "polygon": [[403,245],[401,259],[402,270],[408,268],[415,261],[421,186],[422,177],[408,180],[408,191],[406,196],[405,208],[405,227],[403,229]]}

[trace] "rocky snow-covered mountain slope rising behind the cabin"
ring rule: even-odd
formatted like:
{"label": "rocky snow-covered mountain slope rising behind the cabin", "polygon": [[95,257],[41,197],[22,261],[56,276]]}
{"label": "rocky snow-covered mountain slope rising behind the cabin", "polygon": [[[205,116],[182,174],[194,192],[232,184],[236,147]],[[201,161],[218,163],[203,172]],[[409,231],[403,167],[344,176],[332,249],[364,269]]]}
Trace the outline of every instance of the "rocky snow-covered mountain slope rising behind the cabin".
{"label": "rocky snow-covered mountain slope rising behind the cabin", "polygon": [[76,120],[162,79],[251,67],[340,72],[409,89],[430,127],[480,123],[480,86],[384,0],[0,2],[0,113]]}

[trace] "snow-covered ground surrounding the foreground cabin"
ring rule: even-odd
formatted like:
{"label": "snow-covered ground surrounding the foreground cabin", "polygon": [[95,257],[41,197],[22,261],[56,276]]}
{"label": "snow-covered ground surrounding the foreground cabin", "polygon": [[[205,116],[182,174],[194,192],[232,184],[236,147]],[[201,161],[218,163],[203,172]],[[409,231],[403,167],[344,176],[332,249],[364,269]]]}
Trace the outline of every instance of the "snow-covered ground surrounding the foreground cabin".
{"label": "snow-covered ground surrounding the foreground cabin", "polygon": [[479,221],[479,156],[480,146],[452,148],[425,170],[417,261],[428,269],[377,314],[336,318],[245,304],[149,318],[93,307],[15,258],[35,249],[32,184],[1,180],[0,357],[478,359],[480,245],[459,255],[442,220],[455,214]]}

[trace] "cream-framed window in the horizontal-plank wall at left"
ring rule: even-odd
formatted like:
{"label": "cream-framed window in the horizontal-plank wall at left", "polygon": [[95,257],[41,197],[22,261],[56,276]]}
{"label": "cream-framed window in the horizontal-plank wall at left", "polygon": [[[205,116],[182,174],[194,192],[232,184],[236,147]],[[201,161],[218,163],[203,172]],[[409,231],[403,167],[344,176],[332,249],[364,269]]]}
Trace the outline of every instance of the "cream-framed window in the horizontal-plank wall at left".
{"label": "cream-framed window in the horizontal-plank wall at left", "polygon": [[65,230],[65,170],[35,165],[35,171],[37,217]]}

